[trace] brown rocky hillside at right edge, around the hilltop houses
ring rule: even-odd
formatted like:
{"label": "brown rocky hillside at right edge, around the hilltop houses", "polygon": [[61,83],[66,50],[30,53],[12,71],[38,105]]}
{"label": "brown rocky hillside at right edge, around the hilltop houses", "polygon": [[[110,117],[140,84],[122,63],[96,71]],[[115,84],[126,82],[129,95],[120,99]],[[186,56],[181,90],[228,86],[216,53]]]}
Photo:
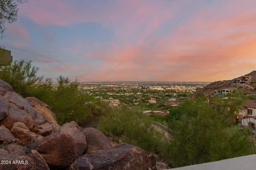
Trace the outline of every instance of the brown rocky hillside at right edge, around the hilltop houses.
{"label": "brown rocky hillside at right edge, around the hilltop houses", "polygon": [[[241,88],[247,92],[248,94],[256,94],[256,92],[253,90],[252,87],[256,87],[256,71],[253,71],[249,74],[243,75],[244,76],[251,76],[252,77],[252,82],[248,85],[243,85]],[[241,78],[239,77],[239,78]],[[205,96],[211,96],[214,92],[214,90],[221,90],[221,89],[226,89],[226,88],[238,88],[236,85],[231,85],[232,80],[225,80],[225,81],[215,81],[207,86],[205,86],[203,89],[197,90],[198,92],[203,92]]]}

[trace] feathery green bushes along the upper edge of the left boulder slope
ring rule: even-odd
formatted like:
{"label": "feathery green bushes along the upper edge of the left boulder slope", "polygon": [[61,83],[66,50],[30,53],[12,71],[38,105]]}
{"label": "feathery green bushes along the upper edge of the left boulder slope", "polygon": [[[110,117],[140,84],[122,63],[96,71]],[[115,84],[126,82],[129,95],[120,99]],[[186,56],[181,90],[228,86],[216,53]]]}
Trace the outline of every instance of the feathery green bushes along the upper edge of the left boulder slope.
{"label": "feathery green bushes along the upper edge of the left boulder slope", "polygon": [[23,97],[36,97],[50,106],[59,124],[76,121],[83,124],[89,115],[95,117],[109,112],[105,103],[79,91],[79,83],[60,76],[57,84],[38,77],[38,68],[31,61],[14,61],[0,67],[0,79],[8,82]]}

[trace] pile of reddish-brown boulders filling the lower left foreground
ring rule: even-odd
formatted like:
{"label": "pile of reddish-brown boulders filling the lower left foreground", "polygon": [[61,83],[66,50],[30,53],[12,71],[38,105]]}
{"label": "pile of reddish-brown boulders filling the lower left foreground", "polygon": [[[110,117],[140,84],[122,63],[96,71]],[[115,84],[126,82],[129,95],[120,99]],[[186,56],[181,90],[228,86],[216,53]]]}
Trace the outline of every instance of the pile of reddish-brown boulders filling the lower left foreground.
{"label": "pile of reddish-brown boulders filling the lower left foreground", "polygon": [[164,169],[133,145],[112,146],[94,128],[60,126],[49,106],[0,80],[0,169]]}

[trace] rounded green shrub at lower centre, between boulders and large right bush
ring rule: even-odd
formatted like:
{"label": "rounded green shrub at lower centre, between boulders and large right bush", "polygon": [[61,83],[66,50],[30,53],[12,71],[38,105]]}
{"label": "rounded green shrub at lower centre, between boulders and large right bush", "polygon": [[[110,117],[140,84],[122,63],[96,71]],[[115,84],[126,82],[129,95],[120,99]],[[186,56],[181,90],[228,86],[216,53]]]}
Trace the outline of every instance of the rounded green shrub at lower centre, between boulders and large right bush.
{"label": "rounded green shrub at lower centre, between boulders and large right bush", "polygon": [[125,107],[116,108],[109,115],[103,116],[98,129],[148,152],[159,153],[164,150],[163,135],[155,131],[148,116]]}

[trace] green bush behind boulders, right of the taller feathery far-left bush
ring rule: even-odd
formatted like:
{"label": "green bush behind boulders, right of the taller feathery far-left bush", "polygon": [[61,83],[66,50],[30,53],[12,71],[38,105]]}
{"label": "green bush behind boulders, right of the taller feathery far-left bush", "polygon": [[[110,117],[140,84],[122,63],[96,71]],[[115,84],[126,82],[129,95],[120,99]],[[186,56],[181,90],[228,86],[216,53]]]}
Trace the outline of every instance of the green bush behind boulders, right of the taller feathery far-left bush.
{"label": "green bush behind boulders, right of the taller feathery far-left bush", "polygon": [[59,124],[70,121],[82,124],[90,114],[103,114],[104,111],[102,108],[95,111],[96,107],[89,104],[93,101],[99,104],[99,101],[79,91],[78,85],[77,81],[71,82],[60,76],[57,84],[47,79],[31,90],[30,95],[48,104],[56,114]]}

